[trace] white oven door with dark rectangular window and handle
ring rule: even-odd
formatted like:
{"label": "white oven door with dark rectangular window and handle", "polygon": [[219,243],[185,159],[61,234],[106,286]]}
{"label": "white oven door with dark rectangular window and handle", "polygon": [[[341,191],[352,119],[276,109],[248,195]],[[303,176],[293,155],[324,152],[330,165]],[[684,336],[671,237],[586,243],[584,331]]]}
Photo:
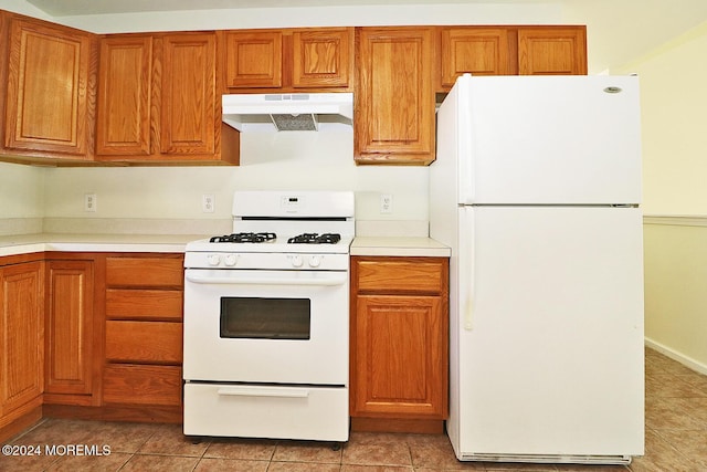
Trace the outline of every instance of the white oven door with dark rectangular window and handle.
{"label": "white oven door with dark rectangular window and handle", "polygon": [[348,385],[348,271],[187,269],[186,380]]}

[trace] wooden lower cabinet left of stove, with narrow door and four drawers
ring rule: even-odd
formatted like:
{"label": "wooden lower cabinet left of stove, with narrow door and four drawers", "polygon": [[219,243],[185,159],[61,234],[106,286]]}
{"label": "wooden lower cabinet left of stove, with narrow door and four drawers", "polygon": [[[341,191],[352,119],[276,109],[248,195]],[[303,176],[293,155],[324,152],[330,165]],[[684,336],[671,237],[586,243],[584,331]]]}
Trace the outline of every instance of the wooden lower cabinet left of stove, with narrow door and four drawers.
{"label": "wooden lower cabinet left of stove, with narrow door and four drawers", "polygon": [[181,422],[183,254],[48,254],[44,415]]}

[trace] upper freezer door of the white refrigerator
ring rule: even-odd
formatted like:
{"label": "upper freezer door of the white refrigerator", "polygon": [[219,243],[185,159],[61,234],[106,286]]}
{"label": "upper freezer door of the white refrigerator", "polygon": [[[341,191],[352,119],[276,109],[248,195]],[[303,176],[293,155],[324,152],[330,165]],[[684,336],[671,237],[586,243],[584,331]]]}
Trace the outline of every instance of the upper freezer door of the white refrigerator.
{"label": "upper freezer door of the white refrigerator", "polygon": [[466,75],[455,86],[457,202],[640,202],[639,77]]}

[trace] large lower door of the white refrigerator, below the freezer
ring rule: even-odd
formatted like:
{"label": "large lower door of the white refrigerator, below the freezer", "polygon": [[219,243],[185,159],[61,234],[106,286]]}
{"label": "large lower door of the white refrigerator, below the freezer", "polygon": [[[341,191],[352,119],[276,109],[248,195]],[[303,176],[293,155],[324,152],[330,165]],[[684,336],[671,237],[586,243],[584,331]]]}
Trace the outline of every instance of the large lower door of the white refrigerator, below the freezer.
{"label": "large lower door of the white refrigerator, below the freezer", "polygon": [[462,207],[458,238],[457,457],[643,454],[641,211]]}

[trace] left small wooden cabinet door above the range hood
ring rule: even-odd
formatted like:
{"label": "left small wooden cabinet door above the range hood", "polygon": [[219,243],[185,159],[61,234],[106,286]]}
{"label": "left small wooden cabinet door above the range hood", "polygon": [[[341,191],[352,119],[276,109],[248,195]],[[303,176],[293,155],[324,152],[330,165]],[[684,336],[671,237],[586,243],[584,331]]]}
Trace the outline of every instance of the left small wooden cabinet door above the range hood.
{"label": "left small wooden cabinet door above the range hood", "polygon": [[279,31],[229,32],[225,42],[226,87],[277,88],[283,85],[283,35]]}

